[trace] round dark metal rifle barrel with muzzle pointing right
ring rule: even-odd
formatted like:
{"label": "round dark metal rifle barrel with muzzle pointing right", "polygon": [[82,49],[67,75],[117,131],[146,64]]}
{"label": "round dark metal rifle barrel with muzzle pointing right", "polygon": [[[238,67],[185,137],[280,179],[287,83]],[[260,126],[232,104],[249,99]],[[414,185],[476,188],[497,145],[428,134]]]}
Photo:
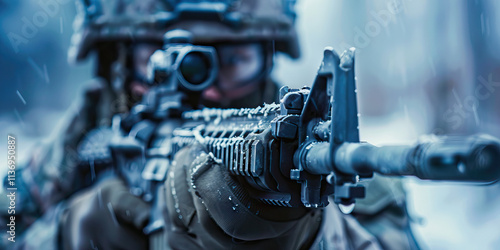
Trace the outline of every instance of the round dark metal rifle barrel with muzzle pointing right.
{"label": "round dark metal rifle barrel with muzzle pointing right", "polygon": [[[304,168],[313,174],[416,176],[428,180],[490,182],[500,176],[500,143],[488,136],[441,137],[413,146],[368,143],[310,144]],[[333,159],[332,159],[333,156]]]}

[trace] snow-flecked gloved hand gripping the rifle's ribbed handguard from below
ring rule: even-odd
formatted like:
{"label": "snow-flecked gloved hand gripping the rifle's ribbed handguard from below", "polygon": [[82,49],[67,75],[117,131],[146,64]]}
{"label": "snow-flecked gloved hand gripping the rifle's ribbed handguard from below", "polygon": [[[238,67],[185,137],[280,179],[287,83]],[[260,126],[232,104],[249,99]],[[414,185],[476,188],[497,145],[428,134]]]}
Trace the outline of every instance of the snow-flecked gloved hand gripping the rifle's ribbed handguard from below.
{"label": "snow-flecked gloved hand gripping the rifle's ribbed handguard from below", "polygon": [[320,228],[320,209],[283,208],[253,200],[201,145],[176,154],[165,182],[174,249],[308,248]]}

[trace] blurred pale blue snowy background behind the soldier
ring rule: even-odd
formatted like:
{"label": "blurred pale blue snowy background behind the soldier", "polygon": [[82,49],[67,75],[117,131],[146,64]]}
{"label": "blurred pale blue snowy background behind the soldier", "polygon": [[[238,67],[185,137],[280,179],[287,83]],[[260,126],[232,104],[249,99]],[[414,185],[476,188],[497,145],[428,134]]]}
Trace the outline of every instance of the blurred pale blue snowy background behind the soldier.
{"label": "blurred pale blue snowy background behind the soldier", "polygon": [[[21,162],[53,132],[93,66],[66,62],[73,1],[58,0],[60,8],[50,13],[42,2],[0,0],[0,127],[3,138],[17,136]],[[499,1],[299,0],[296,7],[302,58],[278,56],[275,78],[310,85],[324,47],[339,53],[356,47],[362,140],[500,137]],[[22,35],[25,22],[37,22],[29,37]],[[6,155],[6,143],[0,149]],[[424,249],[500,249],[499,184],[405,182]]]}

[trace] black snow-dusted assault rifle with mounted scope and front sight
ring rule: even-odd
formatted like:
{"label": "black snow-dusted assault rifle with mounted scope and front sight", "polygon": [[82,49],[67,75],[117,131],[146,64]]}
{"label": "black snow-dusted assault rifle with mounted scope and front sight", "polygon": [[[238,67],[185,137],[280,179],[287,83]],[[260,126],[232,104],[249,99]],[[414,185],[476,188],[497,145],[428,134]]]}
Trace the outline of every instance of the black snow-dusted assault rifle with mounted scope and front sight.
{"label": "black snow-dusted assault rifle with mounted scope and front sight", "polygon": [[[112,146],[118,171],[146,201],[155,200],[176,152],[193,143],[248,185],[254,199],[284,207],[324,207],[329,196],[350,207],[364,197],[359,178],[375,172],[484,182],[499,176],[500,144],[485,135],[413,146],[360,142],[354,49],[340,57],[325,49],[312,87],[283,87],[279,104],[195,110],[199,93],[215,78],[215,50],[190,45],[182,34],[167,36],[164,50],[151,57],[157,86],[121,122],[127,135]],[[147,233],[163,222],[153,207]]]}

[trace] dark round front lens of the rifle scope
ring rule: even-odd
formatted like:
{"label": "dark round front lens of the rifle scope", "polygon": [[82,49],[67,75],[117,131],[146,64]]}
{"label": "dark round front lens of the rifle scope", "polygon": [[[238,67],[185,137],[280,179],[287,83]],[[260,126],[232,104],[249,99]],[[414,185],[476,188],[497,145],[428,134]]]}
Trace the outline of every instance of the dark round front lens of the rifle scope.
{"label": "dark round front lens of the rifle scope", "polygon": [[207,80],[209,67],[210,63],[202,53],[192,52],[182,59],[180,71],[186,81],[198,85]]}

